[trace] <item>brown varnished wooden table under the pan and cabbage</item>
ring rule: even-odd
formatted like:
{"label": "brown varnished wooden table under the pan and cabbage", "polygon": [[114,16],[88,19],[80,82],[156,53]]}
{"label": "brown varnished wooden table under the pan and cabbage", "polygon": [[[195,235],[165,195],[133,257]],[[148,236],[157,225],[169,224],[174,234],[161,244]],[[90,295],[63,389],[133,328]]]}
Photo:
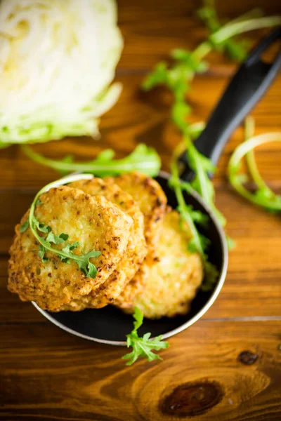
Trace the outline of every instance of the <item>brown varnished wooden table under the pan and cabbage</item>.
{"label": "brown varnished wooden table under the pan and cabbage", "polygon": [[[278,3],[220,0],[218,10],[234,18],[262,6],[269,14]],[[180,140],[169,121],[169,95],[143,95],[139,86],[171,48],[194,48],[202,40],[204,29],[193,17],[197,6],[199,1],[120,0],[125,48],[117,79],[124,91],[102,119],[102,140],[66,139],[35,149],[89,159],[105,147],[123,156],[146,142],[162,154],[167,169]],[[207,118],[234,69],[216,54],[209,61],[209,71],[196,77],[190,91],[193,121]],[[280,98],[281,77],[253,112],[256,133],[280,131]],[[228,143],[215,179],[218,207],[237,241],[225,286],[200,321],[169,340],[164,361],[130,368],[121,360],[124,348],[75,338],[6,290],[14,225],[39,187],[58,173],[32,163],[19,147],[0,151],[0,420],[281,420],[280,216],[249,205],[228,184],[226,165],[241,140],[242,128]],[[268,144],[257,156],[269,185],[280,191],[281,146]]]}

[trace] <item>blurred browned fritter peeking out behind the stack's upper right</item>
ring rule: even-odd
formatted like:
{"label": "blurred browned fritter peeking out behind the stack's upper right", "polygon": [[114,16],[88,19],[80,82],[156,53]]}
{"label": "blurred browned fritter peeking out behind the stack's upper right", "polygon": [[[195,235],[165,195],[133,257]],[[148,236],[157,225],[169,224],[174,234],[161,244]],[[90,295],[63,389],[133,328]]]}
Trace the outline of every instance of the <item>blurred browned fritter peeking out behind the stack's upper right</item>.
{"label": "blurred browned fritter peeking out behind the stack's upper right", "polygon": [[157,260],[157,243],[162,231],[166,209],[166,195],[159,183],[142,173],[128,173],[118,177],[107,177],[133,196],[145,218],[145,240],[148,244],[147,260]]}

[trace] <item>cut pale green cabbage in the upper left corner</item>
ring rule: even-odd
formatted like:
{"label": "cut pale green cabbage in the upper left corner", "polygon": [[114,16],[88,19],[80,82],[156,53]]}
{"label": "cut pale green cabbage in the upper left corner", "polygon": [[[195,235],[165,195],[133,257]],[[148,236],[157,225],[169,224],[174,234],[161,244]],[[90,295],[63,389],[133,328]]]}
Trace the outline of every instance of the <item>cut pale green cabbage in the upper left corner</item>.
{"label": "cut pale green cabbage in the upper left corner", "polygon": [[98,136],[122,86],[115,0],[3,0],[0,142]]}

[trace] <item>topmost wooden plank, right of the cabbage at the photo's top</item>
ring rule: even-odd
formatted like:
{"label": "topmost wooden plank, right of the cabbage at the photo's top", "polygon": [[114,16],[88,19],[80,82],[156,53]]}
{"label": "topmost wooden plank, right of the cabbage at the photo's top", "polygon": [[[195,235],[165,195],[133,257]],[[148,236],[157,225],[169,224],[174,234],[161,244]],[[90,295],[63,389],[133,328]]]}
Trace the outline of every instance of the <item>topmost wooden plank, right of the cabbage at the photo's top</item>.
{"label": "topmost wooden plank, right of the cabbage at the photo's top", "polygon": [[[174,48],[193,50],[207,37],[207,30],[195,16],[202,6],[201,1],[118,1],[119,26],[125,45],[119,69],[150,69],[160,60],[165,60]],[[237,18],[253,8],[263,9],[266,15],[280,13],[276,0],[216,1],[221,21]],[[268,31],[251,32],[247,39],[252,43]],[[230,69],[233,63],[221,54],[211,53],[208,60],[215,66]]]}

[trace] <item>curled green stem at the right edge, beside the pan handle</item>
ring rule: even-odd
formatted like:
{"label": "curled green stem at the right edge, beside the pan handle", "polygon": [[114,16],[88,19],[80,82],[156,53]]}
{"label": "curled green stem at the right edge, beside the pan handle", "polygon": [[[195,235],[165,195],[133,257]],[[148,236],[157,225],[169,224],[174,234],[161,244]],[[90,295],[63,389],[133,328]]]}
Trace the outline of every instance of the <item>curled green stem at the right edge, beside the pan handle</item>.
{"label": "curled green stem at the right edge, beside the pan handle", "polygon": [[[228,178],[235,190],[256,206],[270,210],[271,212],[281,212],[281,195],[275,194],[264,182],[254,157],[254,149],[264,143],[280,142],[281,133],[265,133],[254,136],[254,119],[249,117],[245,121],[245,140],[239,145],[228,163]],[[247,174],[241,173],[242,159],[246,158],[247,168],[251,179],[256,185],[254,192],[250,192],[244,183],[249,180]]]}

